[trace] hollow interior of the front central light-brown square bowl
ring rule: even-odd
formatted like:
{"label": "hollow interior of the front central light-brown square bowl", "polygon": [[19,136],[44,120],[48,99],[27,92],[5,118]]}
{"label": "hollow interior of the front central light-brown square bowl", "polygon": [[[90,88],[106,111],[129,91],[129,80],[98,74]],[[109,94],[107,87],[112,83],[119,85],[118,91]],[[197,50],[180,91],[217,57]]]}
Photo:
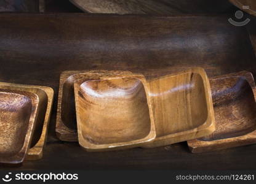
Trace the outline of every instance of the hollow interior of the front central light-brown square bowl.
{"label": "hollow interior of the front central light-brown square bowl", "polygon": [[143,83],[134,77],[89,80],[78,91],[81,134],[90,144],[143,139],[151,121]]}

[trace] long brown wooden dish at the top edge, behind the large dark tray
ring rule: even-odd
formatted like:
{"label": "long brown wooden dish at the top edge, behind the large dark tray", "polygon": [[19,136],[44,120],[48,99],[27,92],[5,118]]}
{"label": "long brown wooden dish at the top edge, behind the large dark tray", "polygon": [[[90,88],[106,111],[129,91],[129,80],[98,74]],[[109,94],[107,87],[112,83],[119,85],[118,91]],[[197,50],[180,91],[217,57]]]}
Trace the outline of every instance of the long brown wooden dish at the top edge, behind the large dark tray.
{"label": "long brown wooden dish at the top edge, behind the large dark tray", "polygon": [[223,13],[231,9],[226,0],[70,0],[90,13],[172,14]]}

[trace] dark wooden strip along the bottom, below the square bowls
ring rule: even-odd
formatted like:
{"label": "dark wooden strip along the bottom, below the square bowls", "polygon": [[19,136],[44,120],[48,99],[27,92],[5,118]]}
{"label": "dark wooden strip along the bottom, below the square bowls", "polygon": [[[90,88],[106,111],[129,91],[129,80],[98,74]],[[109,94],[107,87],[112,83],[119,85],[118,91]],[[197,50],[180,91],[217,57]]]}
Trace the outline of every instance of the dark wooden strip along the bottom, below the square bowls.
{"label": "dark wooden strip along the bottom, below the square bowls", "polygon": [[160,148],[132,148],[123,151],[89,153],[78,143],[51,142],[44,158],[25,161],[20,167],[1,167],[1,170],[102,170],[102,169],[191,169],[237,170],[255,169],[256,145],[231,148],[209,153],[190,153],[185,142]]}

